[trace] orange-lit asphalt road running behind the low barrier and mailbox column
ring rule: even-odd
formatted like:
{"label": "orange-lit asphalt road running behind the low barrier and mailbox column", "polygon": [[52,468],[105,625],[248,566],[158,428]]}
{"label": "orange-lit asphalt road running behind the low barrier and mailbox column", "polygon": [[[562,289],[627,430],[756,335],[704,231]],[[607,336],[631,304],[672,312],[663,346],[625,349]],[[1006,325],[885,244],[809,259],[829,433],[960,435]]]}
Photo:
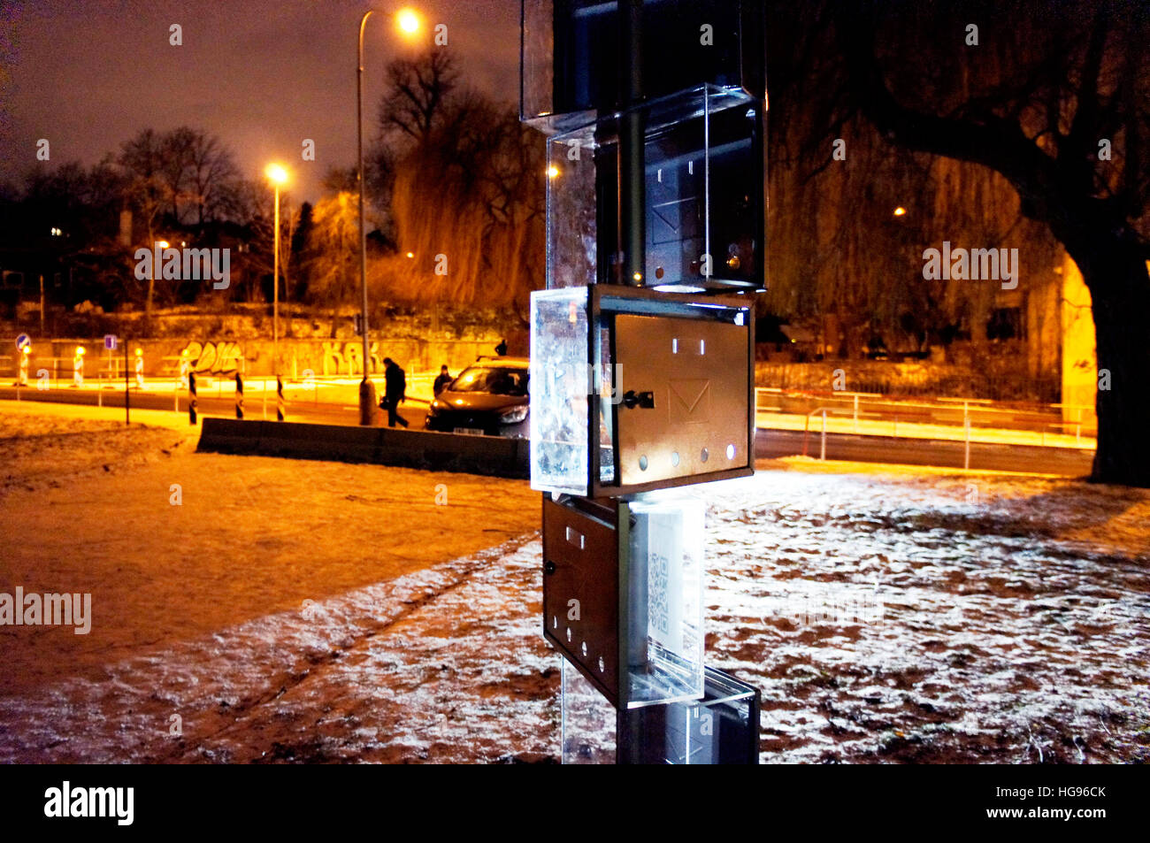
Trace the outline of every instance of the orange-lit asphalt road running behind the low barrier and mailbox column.
{"label": "orange-lit asphalt road running behind the low barrier and mailbox column", "polygon": [[[0,386],[0,399],[15,399],[16,390],[12,386]],[[95,406],[94,390],[70,390],[68,388],[38,391],[21,390],[23,400],[61,401],[66,404],[86,404]],[[122,391],[106,390],[102,394],[103,406],[123,407]],[[170,394],[152,394],[132,392],[131,406],[141,409],[171,409]],[[187,399],[181,397],[179,408],[187,413]],[[200,394],[198,408],[201,415],[235,417],[232,398],[215,398],[210,393]],[[400,415],[408,421],[411,429],[423,428],[427,406],[422,403],[407,401],[399,409]],[[248,398],[245,403],[247,419],[274,420],[276,409],[274,401],[268,401],[267,416],[263,415],[262,396]],[[288,406],[290,421],[314,422],[317,424],[355,424],[359,411],[354,406],[332,404],[291,403]],[[386,414],[376,411],[376,424],[385,423]],[[803,453],[803,432],[796,430],[759,429],[756,436],[754,454],[760,459],[792,457]],[[807,439],[807,455],[818,457],[820,435],[811,434]],[[945,439],[903,439],[889,436],[856,436],[850,434],[827,434],[827,459],[851,460],[856,462],[892,462],[912,466],[936,466],[943,468],[961,468],[964,461],[961,442]],[[1094,459],[1092,451],[1063,447],[1040,447],[1033,445],[998,445],[971,443],[971,468],[990,472],[1036,472],[1042,474],[1060,474],[1072,477],[1086,476],[1090,473]]]}

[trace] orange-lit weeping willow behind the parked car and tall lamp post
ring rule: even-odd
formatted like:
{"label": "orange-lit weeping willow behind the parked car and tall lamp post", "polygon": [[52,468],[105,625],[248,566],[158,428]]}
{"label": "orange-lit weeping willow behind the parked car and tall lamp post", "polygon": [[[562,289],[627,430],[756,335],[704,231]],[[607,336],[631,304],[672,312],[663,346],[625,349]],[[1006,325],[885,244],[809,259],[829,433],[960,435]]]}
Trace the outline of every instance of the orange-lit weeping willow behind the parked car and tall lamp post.
{"label": "orange-lit weeping willow behind the parked car and tall lamp post", "polygon": [[526,302],[543,273],[542,139],[514,107],[458,85],[451,54],[394,62],[381,108],[396,253],[375,276],[392,298]]}

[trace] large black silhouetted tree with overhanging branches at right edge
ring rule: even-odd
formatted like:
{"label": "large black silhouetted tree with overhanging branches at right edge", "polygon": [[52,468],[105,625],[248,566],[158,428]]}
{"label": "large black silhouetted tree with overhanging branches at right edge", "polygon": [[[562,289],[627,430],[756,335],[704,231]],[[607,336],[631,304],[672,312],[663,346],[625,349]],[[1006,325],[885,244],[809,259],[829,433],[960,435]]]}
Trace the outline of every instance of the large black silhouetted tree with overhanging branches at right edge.
{"label": "large black silhouetted tree with overhanging branches at right edge", "polygon": [[[1150,10],[1136,0],[808,7],[823,116],[999,174],[1094,302],[1092,478],[1150,486]],[[821,37],[818,33],[825,33]],[[821,40],[820,40],[821,38]]]}

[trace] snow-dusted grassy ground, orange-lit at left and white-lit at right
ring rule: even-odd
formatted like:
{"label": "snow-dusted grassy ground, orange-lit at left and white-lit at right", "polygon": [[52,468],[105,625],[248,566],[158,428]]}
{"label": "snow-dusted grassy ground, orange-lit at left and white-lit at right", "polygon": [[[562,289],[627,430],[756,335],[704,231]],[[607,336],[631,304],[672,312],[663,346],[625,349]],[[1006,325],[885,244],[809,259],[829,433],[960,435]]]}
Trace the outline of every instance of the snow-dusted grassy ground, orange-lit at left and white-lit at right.
{"label": "snow-dusted grassy ground, orange-lit at left and white-lit at right", "polygon": [[[0,761],[555,758],[526,483],[41,409],[0,408],[0,591],[94,622],[0,627]],[[1150,760],[1150,492],[805,460],[699,491],[764,761]]]}

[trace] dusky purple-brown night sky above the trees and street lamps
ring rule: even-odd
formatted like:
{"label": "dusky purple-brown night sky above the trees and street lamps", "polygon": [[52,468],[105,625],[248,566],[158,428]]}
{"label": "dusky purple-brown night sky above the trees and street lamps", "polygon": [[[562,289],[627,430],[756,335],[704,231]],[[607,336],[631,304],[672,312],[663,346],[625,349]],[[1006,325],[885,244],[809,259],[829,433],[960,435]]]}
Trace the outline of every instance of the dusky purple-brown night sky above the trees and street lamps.
{"label": "dusky purple-brown night sky above the trees and street lamps", "polygon": [[[383,14],[424,21],[408,40]],[[384,68],[447,25],[461,82],[518,107],[519,0],[0,0],[0,181],[20,182],[47,138],[51,164],[98,162],[140,129],[217,135],[244,175],[270,160],[314,201],[329,167],[355,163],[355,39],[365,39],[365,138],[376,131]],[[183,28],[183,46],[169,26]],[[304,138],[316,160],[300,158]]]}

